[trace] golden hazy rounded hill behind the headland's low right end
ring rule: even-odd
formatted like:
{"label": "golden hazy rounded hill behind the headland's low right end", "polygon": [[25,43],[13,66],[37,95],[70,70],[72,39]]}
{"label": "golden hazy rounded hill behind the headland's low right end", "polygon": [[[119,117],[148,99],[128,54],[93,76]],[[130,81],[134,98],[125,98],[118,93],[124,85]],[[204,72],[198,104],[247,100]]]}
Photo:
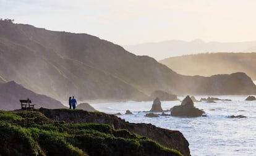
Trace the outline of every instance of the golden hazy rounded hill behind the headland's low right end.
{"label": "golden hazy rounded hill behind the headland's low right end", "polygon": [[183,55],[160,60],[160,63],[182,75],[210,76],[244,72],[252,80],[256,80],[256,53],[219,52]]}

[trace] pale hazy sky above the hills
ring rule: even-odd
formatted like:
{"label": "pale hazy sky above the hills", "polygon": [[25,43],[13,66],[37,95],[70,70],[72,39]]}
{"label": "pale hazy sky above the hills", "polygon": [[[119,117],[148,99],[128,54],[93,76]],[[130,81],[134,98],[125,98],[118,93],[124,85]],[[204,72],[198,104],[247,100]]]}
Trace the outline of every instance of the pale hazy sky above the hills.
{"label": "pale hazy sky above the hills", "polygon": [[1,18],[116,44],[255,41],[255,0],[0,0]]}

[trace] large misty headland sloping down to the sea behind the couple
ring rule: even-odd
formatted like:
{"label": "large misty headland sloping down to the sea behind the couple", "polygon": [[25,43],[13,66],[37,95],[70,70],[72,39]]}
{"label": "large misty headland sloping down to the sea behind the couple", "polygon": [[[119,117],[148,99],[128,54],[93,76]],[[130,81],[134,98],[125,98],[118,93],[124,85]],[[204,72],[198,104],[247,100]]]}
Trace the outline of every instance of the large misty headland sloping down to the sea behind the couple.
{"label": "large misty headland sloping down to the sea behind the couple", "polygon": [[[0,80],[22,84],[59,101],[147,99],[169,94],[252,94],[244,73],[211,77],[179,75],[148,56],[87,34],[49,31],[0,21]],[[234,89],[236,87],[236,89]]]}

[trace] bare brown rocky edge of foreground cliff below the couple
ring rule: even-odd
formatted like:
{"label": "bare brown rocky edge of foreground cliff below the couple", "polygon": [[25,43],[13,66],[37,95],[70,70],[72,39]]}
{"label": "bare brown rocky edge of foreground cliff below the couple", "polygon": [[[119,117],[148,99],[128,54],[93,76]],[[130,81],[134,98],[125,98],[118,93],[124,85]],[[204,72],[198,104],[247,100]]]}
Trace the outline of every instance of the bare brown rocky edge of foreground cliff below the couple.
{"label": "bare brown rocky edge of foreground cliff below the couple", "polygon": [[129,123],[115,115],[109,115],[101,112],[87,112],[84,110],[69,109],[39,109],[46,117],[54,120],[66,121],[67,123],[106,123],[115,129],[128,129],[134,133],[153,139],[161,145],[179,150],[184,156],[189,156],[189,142],[179,131],[162,129],[151,124]]}

